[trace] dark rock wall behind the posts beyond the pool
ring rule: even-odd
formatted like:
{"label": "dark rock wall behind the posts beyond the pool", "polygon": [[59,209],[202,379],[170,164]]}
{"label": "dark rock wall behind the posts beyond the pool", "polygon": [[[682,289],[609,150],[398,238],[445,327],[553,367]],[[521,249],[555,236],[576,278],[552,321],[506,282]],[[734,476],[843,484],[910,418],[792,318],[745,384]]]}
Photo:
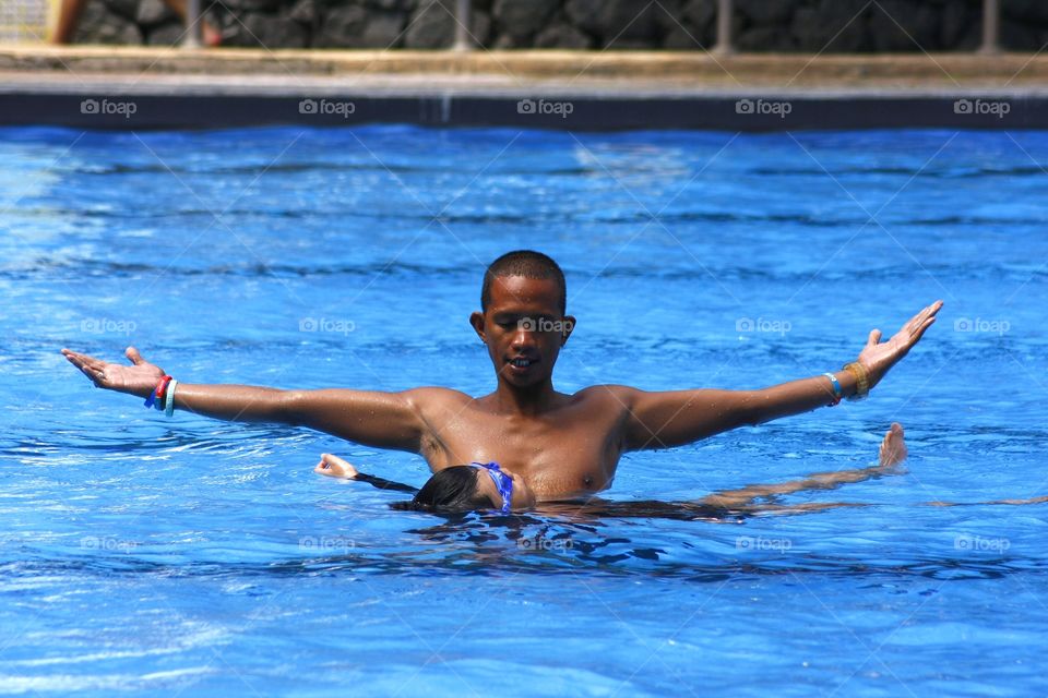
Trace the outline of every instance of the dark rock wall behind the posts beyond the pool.
{"label": "dark rock wall behind the posts beyond the pool", "polygon": [[[225,46],[448,48],[454,0],[201,0]],[[741,51],[972,50],[981,0],[735,0]],[[1048,1],[1001,0],[1001,45],[1048,44]],[[701,50],[715,41],[716,0],[472,0],[471,34],[492,49]],[[74,40],[171,45],[182,34],[162,0],[90,0]]]}

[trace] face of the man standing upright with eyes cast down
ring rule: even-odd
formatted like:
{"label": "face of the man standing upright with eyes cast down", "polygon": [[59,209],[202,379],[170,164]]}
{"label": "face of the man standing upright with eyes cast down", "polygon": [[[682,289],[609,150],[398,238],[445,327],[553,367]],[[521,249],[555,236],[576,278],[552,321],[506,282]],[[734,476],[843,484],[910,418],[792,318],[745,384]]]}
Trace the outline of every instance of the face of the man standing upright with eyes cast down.
{"label": "face of the man standing upright with eyes cast down", "polygon": [[547,381],[575,318],[560,314],[560,288],[549,279],[500,276],[485,313],[469,318],[501,378],[519,387]]}

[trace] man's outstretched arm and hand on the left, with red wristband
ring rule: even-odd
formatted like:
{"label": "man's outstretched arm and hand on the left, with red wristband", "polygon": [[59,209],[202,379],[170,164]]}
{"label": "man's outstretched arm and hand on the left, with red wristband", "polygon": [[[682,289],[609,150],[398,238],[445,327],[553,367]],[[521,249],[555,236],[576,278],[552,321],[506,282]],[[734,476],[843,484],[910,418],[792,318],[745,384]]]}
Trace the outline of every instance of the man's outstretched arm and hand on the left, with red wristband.
{"label": "man's outstretched arm and hand on the left, with red wristband", "polygon": [[[132,365],[62,350],[97,387],[148,397],[164,376],[163,369],[143,359],[134,347],[124,353]],[[179,383],[175,408],[227,421],[309,426],[367,446],[418,453],[425,422],[417,398],[424,390],[281,390]]]}

